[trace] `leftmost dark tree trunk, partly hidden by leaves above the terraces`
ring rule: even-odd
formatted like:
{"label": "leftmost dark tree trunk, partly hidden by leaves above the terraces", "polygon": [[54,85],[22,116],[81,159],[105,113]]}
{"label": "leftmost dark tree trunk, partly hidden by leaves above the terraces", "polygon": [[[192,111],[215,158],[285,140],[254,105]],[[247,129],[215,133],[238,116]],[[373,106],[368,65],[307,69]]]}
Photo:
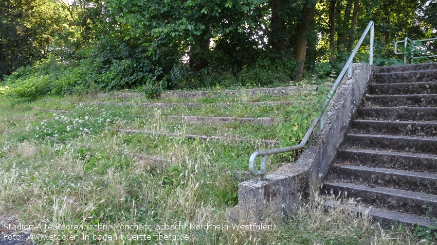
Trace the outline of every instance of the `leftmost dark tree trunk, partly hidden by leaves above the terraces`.
{"label": "leftmost dark tree trunk, partly hidden by leaves above the terraces", "polygon": [[209,38],[205,38],[209,36],[208,32],[208,28],[203,29],[202,33],[195,37],[196,43],[190,45],[189,64],[194,71],[200,71],[208,66],[206,54],[209,49]]}

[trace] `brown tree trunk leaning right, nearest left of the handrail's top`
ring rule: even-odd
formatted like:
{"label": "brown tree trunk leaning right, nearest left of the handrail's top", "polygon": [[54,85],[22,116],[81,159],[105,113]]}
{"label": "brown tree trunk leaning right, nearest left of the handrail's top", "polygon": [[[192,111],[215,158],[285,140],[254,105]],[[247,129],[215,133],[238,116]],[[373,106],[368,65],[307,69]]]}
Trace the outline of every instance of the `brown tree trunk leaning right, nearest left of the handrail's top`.
{"label": "brown tree trunk leaning right, nearest left of the handrail's top", "polygon": [[297,27],[296,43],[294,45],[294,59],[297,65],[296,81],[302,81],[302,73],[304,71],[305,54],[307,52],[308,33],[311,30],[311,24],[314,20],[314,12],[316,9],[316,2],[312,4],[310,9],[303,9],[304,18]]}

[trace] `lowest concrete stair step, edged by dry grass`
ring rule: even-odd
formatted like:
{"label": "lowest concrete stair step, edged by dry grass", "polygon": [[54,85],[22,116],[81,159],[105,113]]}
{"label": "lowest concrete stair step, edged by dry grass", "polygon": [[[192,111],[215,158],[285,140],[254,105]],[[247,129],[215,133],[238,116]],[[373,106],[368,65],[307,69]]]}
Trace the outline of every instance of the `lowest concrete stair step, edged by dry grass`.
{"label": "lowest concrete stair step, edged by dry grass", "polygon": [[338,201],[328,200],[324,201],[323,204],[327,208],[341,208],[348,210],[349,212],[355,212],[361,215],[370,215],[373,221],[379,222],[383,226],[397,226],[399,222],[407,225],[419,225],[426,228],[437,228],[437,223],[432,222],[429,218],[426,219],[423,216],[418,216],[414,214],[407,214],[404,212],[396,212],[386,209],[378,209],[369,205],[362,204],[342,204]]}

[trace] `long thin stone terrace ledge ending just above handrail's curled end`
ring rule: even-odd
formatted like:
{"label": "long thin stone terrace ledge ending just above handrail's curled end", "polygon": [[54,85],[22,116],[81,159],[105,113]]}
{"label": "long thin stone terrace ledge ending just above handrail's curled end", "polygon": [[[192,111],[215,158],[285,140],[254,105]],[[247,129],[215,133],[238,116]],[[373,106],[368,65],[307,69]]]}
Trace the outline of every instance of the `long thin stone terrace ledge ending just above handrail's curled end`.
{"label": "long thin stone terrace ledge ending just above handrail's curled end", "polygon": [[146,130],[133,130],[133,129],[110,129],[122,133],[144,133],[150,135],[158,135],[164,137],[186,137],[190,140],[199,139],[204,141],[222,141],[222,142],[253,142],[261,143],[269,147],[278,147],[279,141],[277,140],[265,140],[265,139],[251,139],[251,138],[234,138],[234,137],[221,137],[210,135],[197,135],[197,134],[182,134],[182,133],[170,133],[170,132],[157,132]]}

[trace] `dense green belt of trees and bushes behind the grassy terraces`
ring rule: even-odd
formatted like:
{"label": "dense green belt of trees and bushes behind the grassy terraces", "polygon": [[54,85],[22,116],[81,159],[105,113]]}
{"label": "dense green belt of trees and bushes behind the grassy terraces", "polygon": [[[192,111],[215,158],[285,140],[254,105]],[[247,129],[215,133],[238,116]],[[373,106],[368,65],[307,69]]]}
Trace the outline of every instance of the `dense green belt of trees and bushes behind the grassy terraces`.
{"label": "dense green belt of trees and bushes behind the grassy terraces", "polygon": [[376,65],[437,33],[436,0],[4,0],[0,15],[3,83],[56,94],[300,81],[338,72],[370,20]]}

